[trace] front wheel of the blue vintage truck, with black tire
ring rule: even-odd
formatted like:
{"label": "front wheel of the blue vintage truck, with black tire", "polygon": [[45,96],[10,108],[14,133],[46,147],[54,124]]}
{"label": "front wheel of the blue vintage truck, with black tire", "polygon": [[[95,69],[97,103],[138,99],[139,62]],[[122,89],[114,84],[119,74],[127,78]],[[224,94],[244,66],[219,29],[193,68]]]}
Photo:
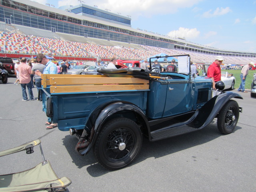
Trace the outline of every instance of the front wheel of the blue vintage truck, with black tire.
{"label": "front wheel of the blue vintage truck, with black tire", "polygon": [[239,107],[236,101],[229,100],[220,110],[217,118],[218,129],[223,134],[230,134],[236,127]]}

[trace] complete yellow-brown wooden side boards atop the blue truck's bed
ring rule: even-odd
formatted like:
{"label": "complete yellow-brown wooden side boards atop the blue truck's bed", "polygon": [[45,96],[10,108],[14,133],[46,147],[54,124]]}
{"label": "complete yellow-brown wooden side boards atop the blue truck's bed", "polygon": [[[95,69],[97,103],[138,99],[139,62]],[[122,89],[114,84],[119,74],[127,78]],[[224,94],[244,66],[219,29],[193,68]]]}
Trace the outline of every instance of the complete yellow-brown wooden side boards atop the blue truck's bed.
{"label": "complete yellow-brown wooden side boards atop the blue truck's bed", "polygon": [[42,85],[44,88],[50,86],[51,93],[147,90],[149,80],[102,75],[43,74]]}

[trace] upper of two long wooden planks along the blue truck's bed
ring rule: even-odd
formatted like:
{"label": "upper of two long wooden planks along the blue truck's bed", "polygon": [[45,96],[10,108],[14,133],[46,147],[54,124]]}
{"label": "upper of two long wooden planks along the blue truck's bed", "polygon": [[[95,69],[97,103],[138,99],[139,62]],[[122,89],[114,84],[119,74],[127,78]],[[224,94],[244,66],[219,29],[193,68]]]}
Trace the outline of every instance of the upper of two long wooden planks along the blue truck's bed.
{"label": "upper of two long wooden planks along the blue truck's bed", "polygon": [[148,80],[127,77],[50,77],[51,85],[147,84]]}

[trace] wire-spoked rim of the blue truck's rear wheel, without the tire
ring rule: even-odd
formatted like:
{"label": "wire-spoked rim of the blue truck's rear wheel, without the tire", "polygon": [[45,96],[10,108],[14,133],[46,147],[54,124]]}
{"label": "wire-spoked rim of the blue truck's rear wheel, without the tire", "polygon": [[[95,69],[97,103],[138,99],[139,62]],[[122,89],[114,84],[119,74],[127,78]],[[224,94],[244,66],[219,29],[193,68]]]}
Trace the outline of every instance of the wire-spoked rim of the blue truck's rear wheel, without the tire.
{"label": "wire-spoked rim of the blue truck's rear wheel, without the tire", "polygon": [[129,129],[119,128],[108,134],[104,142],[104,155],[111,162],[122,162],[130,157],[135,146],[135,135]]}

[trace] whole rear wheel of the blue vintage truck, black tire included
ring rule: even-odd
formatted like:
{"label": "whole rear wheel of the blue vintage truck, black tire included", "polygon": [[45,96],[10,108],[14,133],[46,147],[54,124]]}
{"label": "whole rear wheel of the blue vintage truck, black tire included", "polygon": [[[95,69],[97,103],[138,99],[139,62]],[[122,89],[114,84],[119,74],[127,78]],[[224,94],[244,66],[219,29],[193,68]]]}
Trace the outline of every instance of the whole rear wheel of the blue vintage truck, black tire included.
{"label": "whole rear wheel of the blue vintage truck, black tire included", "polygon": [[94,145],[94,155],[103,167],[115,170],[132,162],[141,146],[139,126],[128,118],[116,118],[100,132]]}

